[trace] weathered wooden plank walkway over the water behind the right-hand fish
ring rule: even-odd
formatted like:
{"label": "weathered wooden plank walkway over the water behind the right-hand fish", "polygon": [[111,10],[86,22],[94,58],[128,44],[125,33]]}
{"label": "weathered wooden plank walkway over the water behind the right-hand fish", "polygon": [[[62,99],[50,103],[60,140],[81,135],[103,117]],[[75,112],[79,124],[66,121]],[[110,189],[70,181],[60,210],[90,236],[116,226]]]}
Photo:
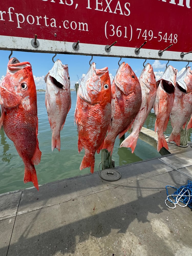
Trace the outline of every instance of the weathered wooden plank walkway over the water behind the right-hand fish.
{"label": "weathered wooden plank walkway over the water behind the right-hand fish", "polygon": [[[154,148],[157,148],[158,136],[157,136],[157,133],[155,133],[154,131],[147,129],[145,127],[142,127],[141,132],[139,134],[139,138],[142,141],[150,144]],[[180,153],[180,152],[188,151],[188,147],[190,146],[191,142],[188,142],[188,147],[178,147],[173,143],[169,143],[168,138],[169,138],[169,136],[165,136],[169,150],[166,150],[166,148],[162,148],[159,151],[159,153],[161,155],[167,155],[167,154],[172,154],[172,153]]]}

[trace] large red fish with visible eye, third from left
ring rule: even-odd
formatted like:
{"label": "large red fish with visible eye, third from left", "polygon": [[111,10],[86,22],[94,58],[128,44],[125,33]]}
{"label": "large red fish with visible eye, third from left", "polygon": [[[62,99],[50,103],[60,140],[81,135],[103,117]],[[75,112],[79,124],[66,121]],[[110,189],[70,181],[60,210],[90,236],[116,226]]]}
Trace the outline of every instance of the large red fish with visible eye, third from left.
{"label": "large red fish with visible eye, third from left", "polygon": [[95,152],[99,154],[111,118],[111,82],[108,68],[96,69],[91,64],[81,80],[74,119],[78,131],[78,151],[85,149],[80,170],[91,167],[94,172]]}

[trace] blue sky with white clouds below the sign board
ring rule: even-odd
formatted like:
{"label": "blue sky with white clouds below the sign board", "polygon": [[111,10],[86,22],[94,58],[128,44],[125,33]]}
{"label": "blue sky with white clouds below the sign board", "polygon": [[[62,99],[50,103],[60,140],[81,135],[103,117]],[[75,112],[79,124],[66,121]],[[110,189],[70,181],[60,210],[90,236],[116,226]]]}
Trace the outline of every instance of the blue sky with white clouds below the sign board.
{"label": "blue sky with white clouds below the sign board", "polygon": [[[7,64],[9,61],[9,55],[11,51],[8,50],[0,50],[0,82],[7,72]],[[33,76],[36,84],[36,89],[46,89],[46,83],[44,81],[45,75],[49,72],[49,70],[53,67],[54,62],[52,61],[52,57],[55,53],[38,53],[38,52],[22,52],[22,51],[13,51],[12,57],[16,57],[20,62],[28,61],[32,66]],[[83,55],[69,55],[69,54],[57,54],[54,58],[61,60],[62,64],[68,64],[69,68],[69,76],[70,76],[70,84],[71,89],[74,89],[74,84],[81,79],[84,74],[87,73],[89,69],[89,61],[91,56],[83,56]],[[108,67],[111,81],[113,80],[116,71],[118,69],[118,61],[119,57],[99,57],[93,56],[91,62],[96,63],[96,68],[101,69],[104,67]],[[120,63],[123,61],[127,62],[136,76],[139,77],[140,73],[143,69],[143,62],[145,59],[138,58],[122,58]],[[145,62],[150,63],[153,66],[153,70],[156,76],[156,80],[158,80],[166,67],[167,61],[164,60],[147,60]],[[169,61],[168,65],[172,65],[179,71],[185,68],[188,62],[186,61]],[[191,63],[189,63],[190,66]],[[180,73],[180,72],[179,72]]]}

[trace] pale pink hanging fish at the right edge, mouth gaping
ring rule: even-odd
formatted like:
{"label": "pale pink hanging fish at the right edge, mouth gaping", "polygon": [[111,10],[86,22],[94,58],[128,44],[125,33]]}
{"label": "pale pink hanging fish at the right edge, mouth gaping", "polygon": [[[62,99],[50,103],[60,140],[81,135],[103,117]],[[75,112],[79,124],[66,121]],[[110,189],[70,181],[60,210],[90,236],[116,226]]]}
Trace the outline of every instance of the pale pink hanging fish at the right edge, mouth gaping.
{"label": "pale pink hanging fish at the right edge, mouth gaping", "polygon": [[[173,131],[168,138],[168,142],[174,141],[180,145],[180,130],[187,123],[192,114],[192,72],[187,67],[184,72],[176,79],[176,90],[173,107],[170,113]],[[189,123],[190,125],[190,123]]]}

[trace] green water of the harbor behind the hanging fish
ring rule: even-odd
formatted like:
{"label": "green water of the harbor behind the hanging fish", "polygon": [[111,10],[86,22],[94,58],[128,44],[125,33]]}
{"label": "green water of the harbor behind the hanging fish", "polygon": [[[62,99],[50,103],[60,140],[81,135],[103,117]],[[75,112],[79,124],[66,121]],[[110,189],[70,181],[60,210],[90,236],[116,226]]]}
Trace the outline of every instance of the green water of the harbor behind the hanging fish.
{"label": "green water of the harbor behind the hanging fish", "polygon": [[[51,130],[47,118],[47,111],[45,107],[45,92],[37,92],[37,106],[38,106],[38,140],[39,148],[42,152],[41,162],[36,165],[36,172],[38,183],[45,184],[48,182],[74,177],[86,173],[90,173],[90,168],[79,170],[84,150],[78,153],[77,141],[77,127],[74,125],[74,111],[76,106],[76,92],[71,92],[71,109],[67,115],[66,122],[63,130],[61,131],[61,150],[58,152],[55,149],[51,151]],[[150,113],[148,116],[145,127],[154,130],[155,116]],[[172,131],[170,122],[166,134]],[[125,134],[127,137],[128,134]],[[189,140],[191,138],[191,133]],[[24,164],[19,157],[15,146],[10,141],[3,131],[0,130],[0,194],[32,187],[31,182],[24,184]],[[114,145],[112,159],[115,160],[115,166],[129,164],[144,159],[150,159],[160,156],[160,154],[147,143],[138,140],[134,153],[131,153],[130,148],[120,148],[120,140],[117,138]],[[101,153],[95,154],[95,170],[98,170],[99,163],[101,162]]]}

